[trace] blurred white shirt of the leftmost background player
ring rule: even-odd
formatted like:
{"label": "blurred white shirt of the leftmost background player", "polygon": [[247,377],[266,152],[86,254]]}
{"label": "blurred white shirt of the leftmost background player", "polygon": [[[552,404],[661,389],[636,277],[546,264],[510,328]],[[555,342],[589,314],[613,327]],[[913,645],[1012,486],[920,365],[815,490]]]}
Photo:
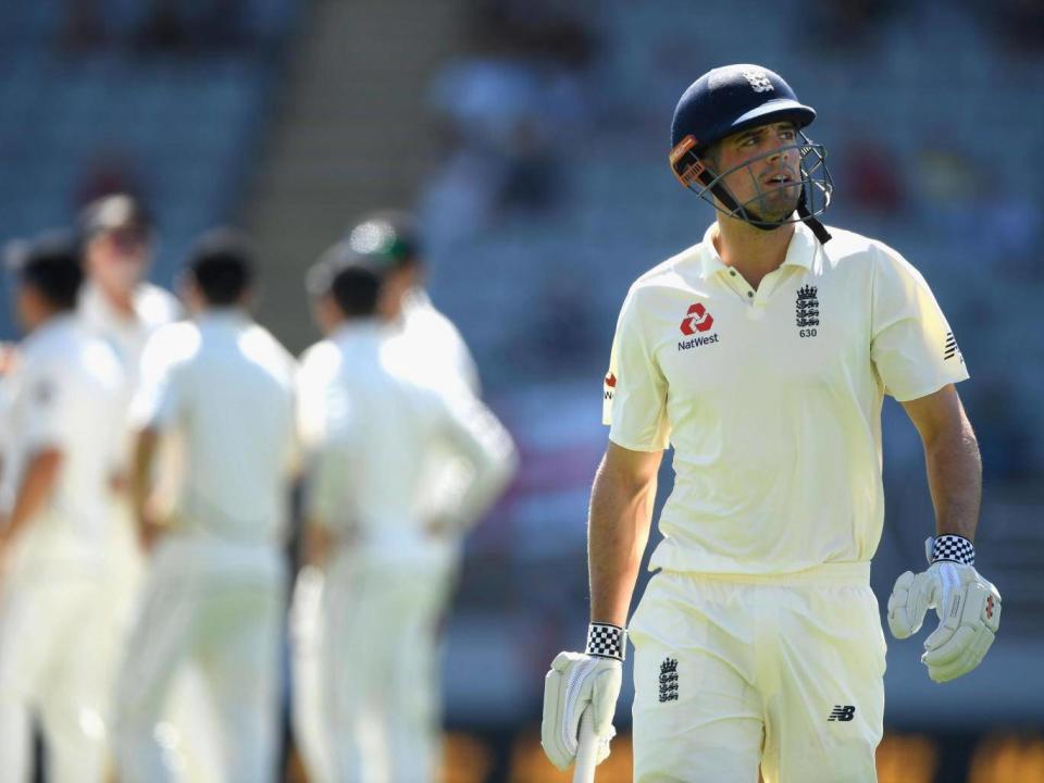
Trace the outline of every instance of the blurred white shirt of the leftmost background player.
{"label": "blurred white shirt of the leftmost background player", "polygon": [[105,554],[112,438],[124,410],[123,373],[103,341],[75,315],[59,315],[23,343],[5,381],[7,434],[0,507],[10,513],[33,457],[62,455],[57,484],[17,547],[33,562],[100,564]]}

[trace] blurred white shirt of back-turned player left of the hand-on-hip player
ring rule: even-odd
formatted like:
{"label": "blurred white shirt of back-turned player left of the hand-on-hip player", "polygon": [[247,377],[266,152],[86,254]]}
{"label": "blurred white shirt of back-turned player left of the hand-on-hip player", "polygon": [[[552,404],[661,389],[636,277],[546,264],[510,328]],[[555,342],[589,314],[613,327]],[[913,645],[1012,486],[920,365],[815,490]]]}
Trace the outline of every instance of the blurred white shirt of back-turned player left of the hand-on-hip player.
{"label": "blurred white shirt of back-turned player left of the hand-on-hip player", "polygon": [[279,543],[296,448],[294,358],[245,314],[211,310],[157,332],[141,368],[134,421],[184,443],[175,524]]}

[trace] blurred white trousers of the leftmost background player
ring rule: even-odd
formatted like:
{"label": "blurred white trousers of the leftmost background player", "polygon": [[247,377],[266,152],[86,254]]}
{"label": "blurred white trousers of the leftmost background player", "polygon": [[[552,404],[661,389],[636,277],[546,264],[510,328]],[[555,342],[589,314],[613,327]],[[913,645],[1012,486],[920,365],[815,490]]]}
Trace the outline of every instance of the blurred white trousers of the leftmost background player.
{"label": "blurred white trousers of the leftmost background player", "polygon": [[32,725],[49,780],[96,783],[105,769],[109,638],[99,574],[21,563],[0,584],[0,781],[32,779]]}

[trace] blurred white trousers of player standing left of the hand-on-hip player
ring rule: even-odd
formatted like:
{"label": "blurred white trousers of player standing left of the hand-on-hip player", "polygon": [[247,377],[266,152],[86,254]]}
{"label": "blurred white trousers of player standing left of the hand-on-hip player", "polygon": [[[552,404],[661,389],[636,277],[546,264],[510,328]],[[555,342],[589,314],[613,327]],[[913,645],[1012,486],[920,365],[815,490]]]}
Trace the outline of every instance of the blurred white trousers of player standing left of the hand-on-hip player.
{"label": "blurred white trousers of player standing left of the hand-on-hip player", "polygon": [[114,748],[122,783],[175,780],[161,719],[194,664],[214,710],[219,781],[275,780],[281,552],[172,537],[157,548],[120,672]]}

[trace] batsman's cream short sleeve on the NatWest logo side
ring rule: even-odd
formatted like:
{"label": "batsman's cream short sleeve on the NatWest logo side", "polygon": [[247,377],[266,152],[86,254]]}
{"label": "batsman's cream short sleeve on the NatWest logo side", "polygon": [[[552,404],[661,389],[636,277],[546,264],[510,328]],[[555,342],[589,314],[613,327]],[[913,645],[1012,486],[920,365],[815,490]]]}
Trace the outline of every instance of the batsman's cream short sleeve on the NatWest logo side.
{"label": "batsman's cream short sleeve on the NatWest logo side", "polygon": [[634,289],[620,311],[602,391],[610,440],[633,451],[668,447],[667,380],[649,350]]}

